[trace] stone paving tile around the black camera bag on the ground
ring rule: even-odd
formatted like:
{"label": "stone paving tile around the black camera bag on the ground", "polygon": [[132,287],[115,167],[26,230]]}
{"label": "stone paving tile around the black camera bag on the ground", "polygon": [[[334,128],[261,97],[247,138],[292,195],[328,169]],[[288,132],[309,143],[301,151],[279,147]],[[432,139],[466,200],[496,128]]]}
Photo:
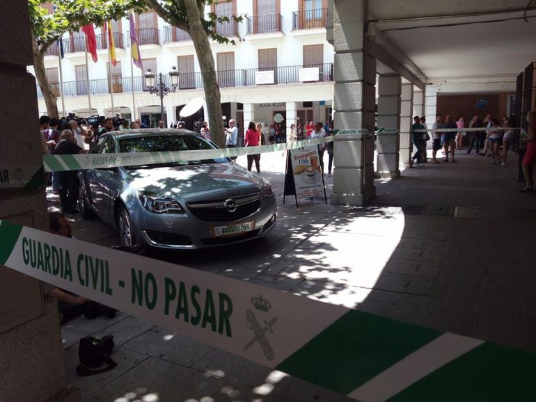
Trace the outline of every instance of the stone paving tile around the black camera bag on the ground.
{"label": "stone paving tile around the black camera bag on the ground", "polygon": [[112,383],[113,380],[116,380],[116,378],[146,360],[148,356],[119,346],[113,349],[111,358],[117,363],[116,368],[95,376],[79,377],[76,371],[76,367],[80,362],[78,348],[70,348],[68,351],[65,351],[65,367],[67,369],[68,383],[81,389],[82,399],[89,399],[91,394],[97,392],[105,385]]}

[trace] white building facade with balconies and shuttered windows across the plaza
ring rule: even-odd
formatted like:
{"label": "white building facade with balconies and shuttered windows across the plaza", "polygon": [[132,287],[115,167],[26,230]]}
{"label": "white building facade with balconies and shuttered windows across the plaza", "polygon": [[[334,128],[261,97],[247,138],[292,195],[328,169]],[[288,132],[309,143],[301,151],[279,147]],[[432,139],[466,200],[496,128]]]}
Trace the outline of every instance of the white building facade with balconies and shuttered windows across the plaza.
{"label": "white building facade with balconies and shuttered windows across the plaza", "polygon": [[[284,127],[326,122],[333,104],[333,46],[326,41],[326,0],[233,0],[207,7],[216,15],[241,15],[243,21],[219,23],[216,30],[235,44],[212,43],[223,115],[235,118],[239,127],[248,122],[271,124],[281,114]],[[51,10],[52,12],[52,10]],[[63,36],[65,57],[61,60],[63,94],[60,88],[58,45],[45,56],[47,77],[56,95],[58,110],[88,117],[93,114],[141,118],[148,126],[164,120],[169,126],[191,99],[203,97],[203,79],[189,34],[169,26],[155,12],[135,15],[143,71],[132,65],[129,21],[113,22],[117,64],[108,67],[108,40],[104,29],[95,28],[97,63],[86,67],[84,33]],[[163,74],[178,67],[178,90],[164,97],[164,118],[157,95],[148,93],[143,74]],[[86,81],[86,68],[89,86]],[[31,69],[30,69],[31,71]],[[113,90],[113,110],[111,104]],[[88,93],[90,99],[88,99]],[[38,88],[39,110],[46,114]],[[279,116],[278,116],[279,117]],[[207,119],[203,110],[192,118]],[[243,131],[243,130],[241,130]]]}

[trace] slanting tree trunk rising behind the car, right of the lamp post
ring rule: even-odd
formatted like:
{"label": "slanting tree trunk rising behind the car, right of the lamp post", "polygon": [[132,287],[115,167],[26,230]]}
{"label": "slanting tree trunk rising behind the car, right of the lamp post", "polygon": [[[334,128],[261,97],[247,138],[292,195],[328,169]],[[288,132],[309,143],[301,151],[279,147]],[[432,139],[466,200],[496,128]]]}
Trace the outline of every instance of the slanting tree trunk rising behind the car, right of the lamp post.
{"label": "slanting tree trunk rising behind the car, right of the lamp post", "polygon": [[191,40],[194,42],[197,59],[203,77],[203,87],[205,88],[205,102],[207,103],[207,112],[209,115],[210,138],[219,147],[225,147],[226,140],[223,134],[223,112],[221,111],[221,95],[219,92],[218,81],[216,79],[216,69],[214,67],[214,57],[210,42],[201,24],[200,10],[196,0],[184,0],[184,8],[189,23],[189,33]]}

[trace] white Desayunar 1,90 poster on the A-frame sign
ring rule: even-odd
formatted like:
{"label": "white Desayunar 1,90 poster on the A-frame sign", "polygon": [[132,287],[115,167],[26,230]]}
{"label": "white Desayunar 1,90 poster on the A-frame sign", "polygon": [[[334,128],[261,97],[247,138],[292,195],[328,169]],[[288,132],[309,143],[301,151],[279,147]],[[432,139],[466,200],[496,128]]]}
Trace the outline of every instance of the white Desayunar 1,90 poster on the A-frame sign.
{"label": "white Desayunar 1,90 poster on the A-frame sign", "polygon": [[297,197],[324,197],[324,181],[317,145],[289,152]]}

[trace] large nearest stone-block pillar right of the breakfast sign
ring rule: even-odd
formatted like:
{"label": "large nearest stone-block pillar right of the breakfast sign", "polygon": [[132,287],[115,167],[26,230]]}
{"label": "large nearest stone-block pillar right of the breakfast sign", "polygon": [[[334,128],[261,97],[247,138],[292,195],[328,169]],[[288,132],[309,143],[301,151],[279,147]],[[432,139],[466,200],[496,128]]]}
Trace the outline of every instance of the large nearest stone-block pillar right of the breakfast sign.
{"label": "large nearest stone-block pillar right of the breakfast sign", "polygon": [[365,0],[333,0],[335,49],[335,129],[368,129],[369,134],[338,134],[333,154],[331,203],[363,206],[374,198],[376,60],[366,53]]}

